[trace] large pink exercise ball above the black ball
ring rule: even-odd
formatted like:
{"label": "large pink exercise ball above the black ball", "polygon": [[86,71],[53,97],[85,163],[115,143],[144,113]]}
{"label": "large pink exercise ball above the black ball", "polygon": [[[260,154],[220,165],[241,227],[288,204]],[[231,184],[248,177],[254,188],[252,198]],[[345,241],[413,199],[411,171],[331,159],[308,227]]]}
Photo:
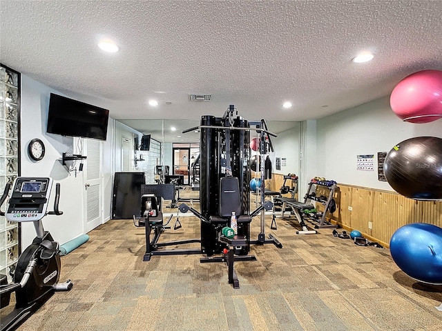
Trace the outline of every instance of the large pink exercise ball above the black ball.
{"label": "large pink exercise ball above the black ball", "polygon": [[423,70],[405,77],[390,96],[393,112],[411,123],[442,118],[442,71]]}

